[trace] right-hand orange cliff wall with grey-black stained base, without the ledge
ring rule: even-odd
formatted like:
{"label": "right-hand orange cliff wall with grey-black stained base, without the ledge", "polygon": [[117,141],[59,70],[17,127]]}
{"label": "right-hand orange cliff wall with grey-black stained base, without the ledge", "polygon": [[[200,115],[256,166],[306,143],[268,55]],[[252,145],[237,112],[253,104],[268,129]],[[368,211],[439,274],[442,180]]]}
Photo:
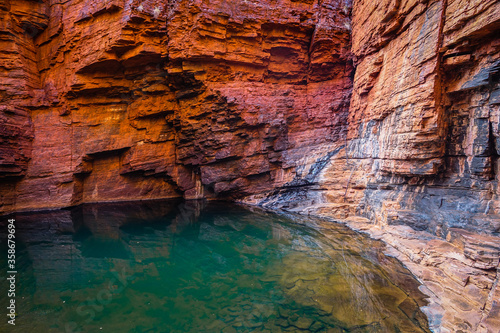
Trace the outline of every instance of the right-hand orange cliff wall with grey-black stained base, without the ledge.
{"label": "right-hand orange cliff wall with grey-black stained base, without the ledge", "polygon": [[500,231],[499,13],[497,1],[355,2],[347,154],[371,171],[354,177],[358,213]]}

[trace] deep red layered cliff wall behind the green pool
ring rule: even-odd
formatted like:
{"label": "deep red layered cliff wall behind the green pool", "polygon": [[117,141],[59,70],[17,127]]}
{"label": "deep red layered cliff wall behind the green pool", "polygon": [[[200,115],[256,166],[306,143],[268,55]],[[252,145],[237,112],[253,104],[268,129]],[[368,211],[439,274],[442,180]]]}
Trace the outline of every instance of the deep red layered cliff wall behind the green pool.
{"label": "deep red layered cliff wall behind the green pool", "polygon": [[7,146],[23,177],[2,186],[3,210],[240,198],[346,131],[348,3],[4,2],[18,25],[45,21],[25,36],[31,148]]}

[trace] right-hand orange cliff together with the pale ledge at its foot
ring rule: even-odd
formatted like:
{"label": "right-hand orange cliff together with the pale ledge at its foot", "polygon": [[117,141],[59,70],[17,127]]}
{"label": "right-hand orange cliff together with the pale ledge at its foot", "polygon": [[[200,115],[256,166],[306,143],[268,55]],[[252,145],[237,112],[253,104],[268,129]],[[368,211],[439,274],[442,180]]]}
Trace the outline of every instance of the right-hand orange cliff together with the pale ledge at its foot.
{"label": "right-hand orange cliff together with the pale ledge at its foot", "polygon": [[499,329],[499,13],[498,1],[355,1],[347,149],[315,191],[264,202],[384,239],[436,300],[437,332]]}

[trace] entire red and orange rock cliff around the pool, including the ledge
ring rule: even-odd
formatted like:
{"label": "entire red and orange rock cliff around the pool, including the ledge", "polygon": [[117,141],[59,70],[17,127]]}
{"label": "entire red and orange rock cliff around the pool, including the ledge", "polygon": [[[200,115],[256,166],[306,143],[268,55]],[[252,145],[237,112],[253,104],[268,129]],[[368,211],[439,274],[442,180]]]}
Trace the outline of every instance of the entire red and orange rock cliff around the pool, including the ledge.
{"label": "entire red and orange rock cliff around the pool, including the ledge", "polygon": [[361,216],[438,295],[436,331],[498,331],[499,13],[0,0],[0,211],[183,196]]}

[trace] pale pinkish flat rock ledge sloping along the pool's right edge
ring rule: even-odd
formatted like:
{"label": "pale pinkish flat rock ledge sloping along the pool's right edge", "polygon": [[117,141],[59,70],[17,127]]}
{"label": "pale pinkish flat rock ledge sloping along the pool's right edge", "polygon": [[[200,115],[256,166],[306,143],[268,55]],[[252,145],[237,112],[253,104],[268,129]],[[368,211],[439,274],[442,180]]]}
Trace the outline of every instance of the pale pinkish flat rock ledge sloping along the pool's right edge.
{"label": "pale pinkish flat rock ledge sloping along the pool's right edge", "polygon": [[374,226],[359,218],[346,223],[389,244],[388,254],[423,283],[430,303],[422,309],[432,331],[497,330],[498,237],[452,229],[445,240],[407,226]]}

